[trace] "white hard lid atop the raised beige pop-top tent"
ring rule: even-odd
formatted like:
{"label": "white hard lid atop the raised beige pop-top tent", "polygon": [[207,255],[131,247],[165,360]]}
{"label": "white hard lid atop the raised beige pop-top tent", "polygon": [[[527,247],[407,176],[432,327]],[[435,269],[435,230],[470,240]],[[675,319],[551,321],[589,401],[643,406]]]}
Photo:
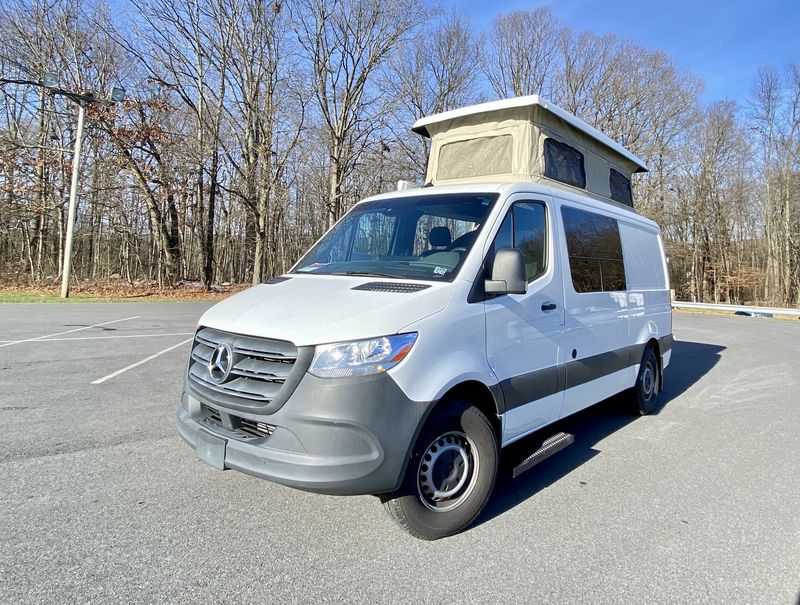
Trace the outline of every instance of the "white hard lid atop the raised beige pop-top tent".
{"label": "white hard lid atop the raised beige pop-top tent", "polygon": [[499,112],[507,109],[514,109],[518,107],[531,107],[531,106],[538,106],[542,108],[543,110],[553,114],[554,116],[560,118],[561,120],[564,120],[574,128],[580,130],[587,136],[596,140],[598,143],[608,147],[609,149],[612,149],[619,155],[630,160],[637,166],[636,172],[647,172],[647,164],[645,164],[642,159],[632,154],[622,145],[620,145],[613,139],[609,138],[608,136],[604,135],[596,128],[589,126],[589,124],[587,124],[583,120],[575,117],[568,111],[565,111],[555,103],[551,103],[550,101],[541,98],[539,95],[529,95],[526,97],[514,97],[512,99],[491,101],[489,103],[480,103],[478,105],[470,105],[468,107],[462,107],[460,109],[453,109],[451,111],[437,113],[432,116],[420,118],[414,123],[414,126],[411,127],[411,130],[422,136],[430,137],[431,133],[428,130],[428,127],[433,124],[438,124],[440,122],[446,122],[448,120],[463,118],[466,116],[471,116],[476,114]]}

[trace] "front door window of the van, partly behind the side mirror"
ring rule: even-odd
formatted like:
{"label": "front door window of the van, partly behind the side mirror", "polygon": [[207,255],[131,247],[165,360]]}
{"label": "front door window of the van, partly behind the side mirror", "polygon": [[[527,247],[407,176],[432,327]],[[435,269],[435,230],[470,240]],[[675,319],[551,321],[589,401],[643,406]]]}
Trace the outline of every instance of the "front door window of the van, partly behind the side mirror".
{"label": "front door window of the van, partly behind the side mirror", "polygon": [[500,230],[492,242],[488,265],[501,248],[517,248],[525,260],[525,276],[536,279],[547,268],[547,210],[544,204],[518,202],[503,219]]}

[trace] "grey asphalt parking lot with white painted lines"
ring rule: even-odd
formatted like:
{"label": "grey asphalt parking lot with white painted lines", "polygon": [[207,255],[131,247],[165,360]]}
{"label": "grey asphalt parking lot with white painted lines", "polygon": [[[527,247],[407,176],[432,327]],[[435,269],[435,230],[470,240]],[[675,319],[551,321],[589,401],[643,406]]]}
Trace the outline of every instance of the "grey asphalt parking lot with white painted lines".
{"label": "grey asphalt parking lot with white painted lines", "polygon": [[795,603],[800,321],[675,314],[659,414],[575,444],[437,542],[374,497],[200,462],[174,427],[207,304],[0,305],[2,603]]}

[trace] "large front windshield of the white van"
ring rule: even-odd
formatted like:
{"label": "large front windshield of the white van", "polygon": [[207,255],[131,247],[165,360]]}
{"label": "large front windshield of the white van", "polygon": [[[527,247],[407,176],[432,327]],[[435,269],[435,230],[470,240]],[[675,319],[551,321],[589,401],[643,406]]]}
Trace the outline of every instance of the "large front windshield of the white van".
{"label": "large front windshield of the white van", "polygon": [[359,204],[293,272],[452,281],[497,197],[419,195]]}

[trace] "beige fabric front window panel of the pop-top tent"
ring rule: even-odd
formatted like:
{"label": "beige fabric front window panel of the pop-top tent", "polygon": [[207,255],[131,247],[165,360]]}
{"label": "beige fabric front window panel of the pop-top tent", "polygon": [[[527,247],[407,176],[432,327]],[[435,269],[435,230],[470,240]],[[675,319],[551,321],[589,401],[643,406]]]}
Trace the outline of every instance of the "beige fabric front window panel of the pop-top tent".
{"label": "beige fabric front window panel of the pop-top tent", "polygon": [[465,179],[511,172],[514,138],[510,134],[453,141],[442,145],[438,180]]}

